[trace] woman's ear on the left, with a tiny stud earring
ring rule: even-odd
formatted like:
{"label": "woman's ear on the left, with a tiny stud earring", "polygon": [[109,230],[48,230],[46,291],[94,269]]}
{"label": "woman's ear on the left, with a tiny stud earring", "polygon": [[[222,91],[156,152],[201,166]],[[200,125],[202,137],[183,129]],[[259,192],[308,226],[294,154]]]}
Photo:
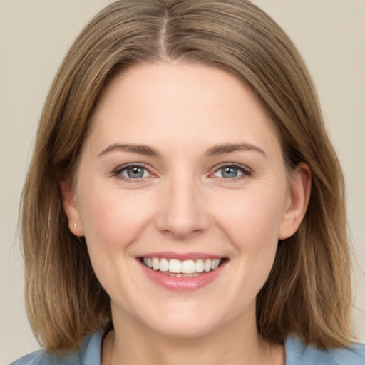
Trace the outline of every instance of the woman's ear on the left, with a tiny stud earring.
{"label": "woman's ear on the left, with a tiny stud earring", "polygon": [[81,223],[80,212],[75,200],[75,192],[72,183],[69,180],[61,180],[60,189],[62,195],[63,210],[68,219],[68,229],[73,235],[83,236],[83,226]]}

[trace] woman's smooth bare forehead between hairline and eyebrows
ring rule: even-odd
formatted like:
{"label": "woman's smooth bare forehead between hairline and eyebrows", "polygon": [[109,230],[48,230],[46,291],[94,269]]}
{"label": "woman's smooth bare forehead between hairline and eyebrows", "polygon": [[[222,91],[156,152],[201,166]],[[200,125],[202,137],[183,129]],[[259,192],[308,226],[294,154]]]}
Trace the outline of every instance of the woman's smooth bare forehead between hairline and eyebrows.
{"label": "woman's smooth bare forehead between hairline and eyebrows", "polygon": [[112,141],[170,141],[187,148],[197,140],[210,145],[277,141],[252,91],[230,73],[201,64],[128,68],[106,88],[92,123],[91,139],[98,148]]}

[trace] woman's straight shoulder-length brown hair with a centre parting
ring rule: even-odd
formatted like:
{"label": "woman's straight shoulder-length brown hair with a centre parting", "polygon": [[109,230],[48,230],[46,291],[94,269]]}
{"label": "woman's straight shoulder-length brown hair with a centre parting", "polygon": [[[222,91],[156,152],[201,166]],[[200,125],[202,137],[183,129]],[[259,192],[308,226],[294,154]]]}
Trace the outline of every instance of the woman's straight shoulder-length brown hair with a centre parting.
{"label": "woman's straight shoulder-length brown hair with a centre parting", "polygon": [[275,125],[288,170],[312,170],[299,230],[279,242],[257,297],[257,327],[283,343],[297,334],[325,348],[351,339],[344,182],[306,66],[284,31],[247,0],[123,0],[103,9],[66,55],[38,126],[22,197],[26,308],[48,350],[76,348],[110,322],[110,299],[84,240],[68,230],[59,182],[72,178],[103,89],[136,63],[178,60],[232,73]]}

